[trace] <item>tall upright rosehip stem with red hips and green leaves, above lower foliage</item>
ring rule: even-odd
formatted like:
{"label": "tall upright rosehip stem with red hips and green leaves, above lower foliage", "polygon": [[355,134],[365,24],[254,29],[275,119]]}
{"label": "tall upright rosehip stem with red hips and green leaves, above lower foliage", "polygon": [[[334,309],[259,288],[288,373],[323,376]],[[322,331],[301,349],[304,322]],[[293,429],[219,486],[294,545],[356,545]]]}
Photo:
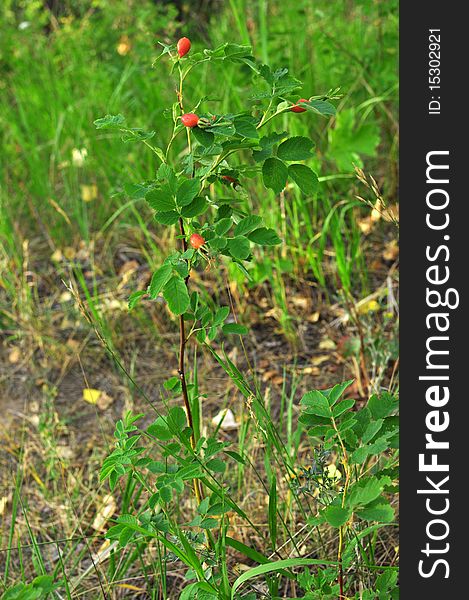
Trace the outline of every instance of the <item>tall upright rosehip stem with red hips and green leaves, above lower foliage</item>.
{"label": "tall upright rosehip stem with red hips and green leaves, above lower foliage", "polygon": [[[244,189],[243,180],[262,174],[265,187],[276,194],[285,188],[287,178],[306,196],[314,194],[318,177],[304,164],[313,156],[314,142],[271,128],[276,118],[289,111],[333,115],[335,108],[330,100],[337,97],[337,90],[308,100],[302,98],[299,106],[291,97],[301,89],[301,82],[288,69],[273,71],[256,62],[248,46],[223,44],[215,50],[192,53],[190,40],[183,37],[176,46],[162,47],[158,59],[166,57],[171,72],[177,74],[176,98],[170,110],[172,133],[166,147],[151,144],[154,132],[127,127],[122,115],[106,115],[97,119],[95,126],[120,130],[124,141],[143,141],[159,162],[156,176],[137,183],[133,196],[144,196],[155,211],[157,224],[176,229],[179,247],[153,274],[148,289],[132,294],[129,306],[133,308],[144,297],[156,300],[162,294],[179,320],[179,383],[195,447],[197,436],[186,380],[186,344],[194,335],[205,343],[213,341],[220,329],[225,334],[242,334],[245,327],[225,324],[228,307],[213,312],[204,305],[198,292],[190,290],[190,274],[194,269],[210,268],[225,260],[236,264],[248,276],[245,264],[254,260],[254,246],[282,243],[277,232],[263,224],[262,217],[249,209],[237,208],[234,201],[226,201],[224,186],[239,192]],[[209,62],[241,63],[252,70],[259,89],[247,110],[218,114],[203,98],[186,98],[187,78],[194,69]],[[188,108],[191,112],[187,112]],[[184,135],[187,151],[181,161],[172,149]],[[246,164],[248,157],[253,166]],[[187,323],[190,327],[186,327]]]}

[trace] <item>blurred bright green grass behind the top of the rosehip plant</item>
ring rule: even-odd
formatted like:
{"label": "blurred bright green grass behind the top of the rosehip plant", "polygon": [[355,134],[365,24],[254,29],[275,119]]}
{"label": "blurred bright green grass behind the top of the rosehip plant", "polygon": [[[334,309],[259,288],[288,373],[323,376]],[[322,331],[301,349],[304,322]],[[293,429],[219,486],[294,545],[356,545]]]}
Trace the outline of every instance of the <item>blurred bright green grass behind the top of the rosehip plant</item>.
{"label": "blurred bright green grass behind the top of the rosehip plant", "polygon": [[[139,3],[132,12],[125,6],[104,4],[82,20],[59,22],[48,36],[39,26],[40,19],[23,30],[18,30],[18,19],[6,23],[0,108],[3,233],[8,252],[13,246],[21,256],[21,238],[39,235],[49,246],[63,248],[71,241],[88,243],[110,230],[120,235],[142,219],[150,229],[142,240],[148,248],[155,228],[142,214],[143,207],[128,205],[118,191],[125,183],[151,177],[155,161],[145,148],[129,144],[122,151],[119,140],[96,133],[92,123],[106,112],[121,112],[133,126],[155,129],[156,141],[167,138],[169,122],[159,107],[168,105],[173,90],[165,67],[151,69],[151,62],[155,41],[167,39],[174,31],[174,13],[169,10],[166,15],[149,2]],[[273,66],[288,65],[303,80],[305,93],[325,92],[337,84],[342,87],[342,114],[339,111],[337,128],[329,130],[328,140],[326,120],[284,117],[293,134],[311,134],[317,140],[318,159],[313,167],[327,177],[317,200],[305,204],[296,192],[287,193],[281,210],[271,192],[248,189],[249,202],[288,239],[294,272],[306,268],[323,286],[323,244],[314,240],[315,233],[336,199],[350,190],[352,162],[361,160],[357,148],[363,151],[362,159],[368,157],[367,168],[373,173],[377,164],[383,164],[380,155],[394,152],[395,157],[396,131],[388,116],[395,114],[397,93],[395,12],[392,3],[384,7],[371,1],[356,5],[300,1],[287,7],[266,0],[232,0],[226,10],[212,16],[209,39],[201,41],[215,46],[241,38],[252,43],[254,51]],[[191,33],[193,25],[189,21],[182,29]],[[126,56],[116,51],[123,33],[132,44]],[[196,36],[192,34],[195,47],[201,43]],[[237,110],[244,103],[248,76],[234,65],[219,68],[215,76],[213,69],[201,71],[186,101],[195,104],[202,95],[214,95],[217,100],[203,106],[220,112]],[[72,152],[82,148],[87,157],[79,167],[73,164]],[[389,187],[389,173],[375,175]],[[93,184],[98,198],[83,202],[81,186]],[[339,242],[340,252],[353,262],[357,232],[353,216],[345,219],[348,228]],[[20,236],[12,231],[13,223],[21,224]],[[336,240],[337,250],[336,234],[326,230],[323,235]],[[347,277],[345,273],[340,276]]]}

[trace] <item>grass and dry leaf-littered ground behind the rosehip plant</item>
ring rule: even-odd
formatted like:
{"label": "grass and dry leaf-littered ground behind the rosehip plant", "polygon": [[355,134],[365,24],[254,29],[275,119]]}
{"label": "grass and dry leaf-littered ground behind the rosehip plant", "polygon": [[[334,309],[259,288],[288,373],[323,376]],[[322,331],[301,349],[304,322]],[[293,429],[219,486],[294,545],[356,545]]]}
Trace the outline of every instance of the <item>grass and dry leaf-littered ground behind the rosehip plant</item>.
{"label": "grass and dry leaf-littered ground behind the rosehip plant", "polygon": [[[122,146],[93,120],[123,113],[155,129],[157,143],[166,139],[171,121],[162,107],[174,89],[152,61],[158,40],[181,35],[194,47],[251,44],[261,60],[301,79],[305,97],[341,86],[336,117],[285,116],[291,134],[316,141],[317,196],[305,202],[293,186],[280,198],[261,183],[246,189],[243,202],[285,243],[269,258],[258,255],[249,282],[236,271],[210,275],[213,297],[225,304],[229,276],[239,318],[251,325],[246,355],[236,342],[226,351],[252,365],[291,464],[304,474],[312,462],[298,424],[304,391],[351,378],[358,404],[372,392],[397,391],[397,2],[6,0],[0,18],[3,586],[62,570],[69,581],[62,597],[101,597],[102,581],[109,597],[163,597],[156,559],[111,551],[104,540],[106,519],[127,496],[110,494],[98,471],[116,419],[144,405],[140,389],[162,402],[168,368],[177,368],[164,306],[130,314],[126,307],[129,291],[148,285],[174,240],[126,191],[153,176],[151,153]],[[188,97],[216,98],[220,113],[245,105],[247,70],[225,65],[199,74]],[[233,422],[220,433],[256,467],[238,466],[232,485],[267,531],[260,482],[278,470],[278,502],[288,512],[291,474],[270,464],[268,444],[256,444],[252,415],[211,357],[195,364],[206,427],[214,431],[212,419],[228,408]],[[184,498],[181,511],[190,510]],[[292,529],[301,531],[301,511],[293,513]],[[243,538],[238,525],[239,539],[269,553],[263,536]],[[373,534],[367,560],[397,562],[395,529],[388,529]],[[337,543],[320,533],[298,539],[305,555],[319,544],[325,555]],[[229,560],[242,570],[239,557]],[[168,597],[178,597],[183,572],[171,569]]]}

